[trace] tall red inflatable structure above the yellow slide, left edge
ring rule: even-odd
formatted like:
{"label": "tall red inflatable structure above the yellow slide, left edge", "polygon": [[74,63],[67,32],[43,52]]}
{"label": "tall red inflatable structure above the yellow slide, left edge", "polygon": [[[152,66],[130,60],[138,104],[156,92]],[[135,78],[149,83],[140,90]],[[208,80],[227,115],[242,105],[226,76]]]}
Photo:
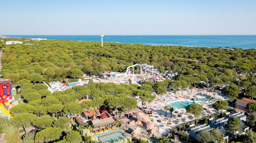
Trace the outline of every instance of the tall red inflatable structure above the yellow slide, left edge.
{"label": "tall red inflatable structure above the yellow slide, left edge", "polygon": [[0,97],[11,96],[12,93],[12,85],[11,79],[0,79]]}

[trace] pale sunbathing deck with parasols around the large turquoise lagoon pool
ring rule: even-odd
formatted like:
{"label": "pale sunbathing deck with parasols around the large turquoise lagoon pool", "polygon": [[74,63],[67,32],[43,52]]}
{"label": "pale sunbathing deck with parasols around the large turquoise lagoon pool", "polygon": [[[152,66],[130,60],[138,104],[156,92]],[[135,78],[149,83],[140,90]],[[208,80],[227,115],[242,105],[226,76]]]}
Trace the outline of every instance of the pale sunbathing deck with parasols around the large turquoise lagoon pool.
{"label": "pale sunbathing deck with parasols around the large turquoise lagoon pool", "polygon": [[[156,95],[156,99],[153,101],[153,103],[150,104],[150,111],[154,111],[154,112],[156,112],[156,114],[152,114],[150,116],[150,118],[153,118],[154,120],[160,120],[161,121],[161,123],[156,122],[155,125],[159,127],[159,133],[161,133],[162,135],[167,135],[169,133],[170,129],[177,128],[181,124],[188,123],[188,122],[191,122],[191,121],[195,121],[194,115],[192,115],[192,114],[190,114],[186,111],[185,112],[181,111],[181,110],[185,110],[185,109],[175,109],[174,111],[178,111],[179,113],[176,114],[176,113],[172,112],[172,117],[175,118],[174,120],[170,119],[171,114],[170,114],[169,111],[167,111],[167,116],[165,116],[165,118],[161,118],[160,115],[165,115],[165,113],[166,113],[166,111],[163,110],[163,107],[166,104],[169,104],[169,103],[175,102],[175,101],[190,100],[193,97],[197,97],[197,98],[198,97],[207,97],[208,95],[211,95],[213,97],[212,92],[207,92],[207,91],[204,91],[204,90],[193,89],[192,93],[190,93],[190,90],[188,90],[188,91],[189,91],[188,93],[186,91],[183,91],[184,96],[182,96],[181,91],[180,91],[181,95],[179,95],[177,93],[176,96],[175,96],[175,93],[167,92],[165,95],[162,95],[162,97],[160,95],[155,94],[155,92],[152,93],[152,94]],[[224,94],[221,94],[221,95],[224,95]],[[218,95],[216,93],[215,101],[217,101],[216,99],[228,100],[227,96],[223,97],[221,95]],[[142,104],[141,100],[139,99],[138,96],[136,98],[137,98],[137,101],[138,101],[137,106],[141,107],[141,104]],[[227,99],[225,99],[225,98],[227,98]],[[190,101],[192,101],[192,100],[190,100]],[[201,104],[203,106],[203,108],[206,108],[207,110],[203,110],[202,116],[199,117],[198,119],[203,118],[203,117],[208,117],[210,115],[218,113],[217,110],[215,110],[211,107],[212,106],[211,102],[210,102],[210,105],[207,105],[206,103],[209,103],[209,100],[204,102],[204,104]],[[148,103],[146,103],[146,104],[148,104]],[[143,107],[148,108],[149,106],[148,105],[143,105]],[[148,109],[145,109],[145,110],[148,111]],[[188,113],[188,115],[187,116],[184,115],[185,113]],[[181,115],[182,117],[181,118],[177,117],[178,114]],[[193,119],[189,120],[188,118],[190,118],[190,117],[193,118]],[[163,122],[162,121],[163,119],[166,119],[168,121]],[[184,122],[182,122],[181,120],[183,120]],[[174,124],[174,122],[176,122],[176,124]],[[171,126],[167,127],[166,126],[167,124],[170,124]]]}

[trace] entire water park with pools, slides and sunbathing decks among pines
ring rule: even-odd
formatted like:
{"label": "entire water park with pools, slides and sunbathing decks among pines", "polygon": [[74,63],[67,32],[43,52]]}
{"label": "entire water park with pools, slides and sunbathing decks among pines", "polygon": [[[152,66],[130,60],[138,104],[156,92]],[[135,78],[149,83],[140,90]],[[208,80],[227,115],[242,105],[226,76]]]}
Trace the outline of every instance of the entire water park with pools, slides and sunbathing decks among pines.
{"label": "entire water park with pools, slides and sunbathing decks among pines", "polygon": [[[137,69],[137,74],[135,73],[134,68]],[[93,78],[93,82],[129,84],[128,79],[131,79],[132,84],[138,84],[140,86],[140,82],[143,81],[158,82],[165,81],[171,78],[166,74],[163,74],[156,70],[154,66],[139,63],[127,67],[126,72],[104,72],[101,74],[101,78]],[[63,91],[77,85],[85,86],[88,84],[88,80],[79,80],[78,82],[73,82],[69,84],[60,82],[53,82],[49,84],[51,84],[51,88],[54,91]],[[172,87],[170,88],[172,89]],[[118,139],[124,139],[126,137],[132,137],[133,139],[146,138],[147,140],[150,140],[152,142],[157,142],[157,139],[151,138],[152,135],[157,138],[161,136],[166,136],[168,135],[168,133],[170,133],[171,129],[179,128],[182,124],[195,121],[195,117],[193,116],[193,114],[188,113],[185,109],[188,105],[202,105],[204,110],[202,111],[202,115],[200,118],[204,118],[219,113],[218,110],[212,108],[212,104],[214,103],[213,99],[214,101],[228,99],[225,94],[197,88],[194,88],[193,90],[189,90],[188,88],[180,88],[176,90],[172,89],[168,90],[166,94],[163,95],[158,95],[155,91],[153,91],[151,94],[156,95],[156,99],[152,103],[150,103],[150,105],[144,103],[144,107],[142,107],[141,99],[138,96],[136,97],[137,107],[141,107],[141,111],[137,112],[136,116],[133,116],[133,118],[122,119],[122,121],[124,122],[123,127],[115,128],[116,126],[105,125],[105,127],[102,126],[102,128],[98,127],[94,129],[92,131],[92,134],[98,137],[101,142],[113,142]],[[172,117],[170,112],[167,112],[166,114],[166,111],[163,109],[163,107],[165,107],[166,105],[169,108],[174,108]],[[93,113],[94,112],[89,112],[87,114]],[[97,114],[97,111],[95,111],[95,114]],[[115,114],[112,115],[115,116]],[[98,120],[94,116],[92,116],[91,118],[93,118],[93,121],[95,119]],[[101,117],[99,116],[99,118]],[[83,122],[88,121],[84,119],[84,117],[82,118],[82,120]],[[148,125],[150,125],[151,127],[148,127]],[[114,129],[112,127],[114,127]]]}

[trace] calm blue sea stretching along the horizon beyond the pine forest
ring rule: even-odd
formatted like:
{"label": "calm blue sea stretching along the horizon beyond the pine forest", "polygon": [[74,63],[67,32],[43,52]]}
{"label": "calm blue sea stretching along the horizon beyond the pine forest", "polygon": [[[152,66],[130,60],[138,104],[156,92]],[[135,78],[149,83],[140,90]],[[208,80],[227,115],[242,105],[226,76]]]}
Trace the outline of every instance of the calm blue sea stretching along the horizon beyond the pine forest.
{"label": "calm blue sea stretching along the horizon beyond the pine forest", "polygon": [[[3,35],[21,38],[101,41],[99,35]],[[250,41],[251,38],[251,41]],[[173,44],[188,47],[256,48],[256,35],[104,35],[103,42]]]}

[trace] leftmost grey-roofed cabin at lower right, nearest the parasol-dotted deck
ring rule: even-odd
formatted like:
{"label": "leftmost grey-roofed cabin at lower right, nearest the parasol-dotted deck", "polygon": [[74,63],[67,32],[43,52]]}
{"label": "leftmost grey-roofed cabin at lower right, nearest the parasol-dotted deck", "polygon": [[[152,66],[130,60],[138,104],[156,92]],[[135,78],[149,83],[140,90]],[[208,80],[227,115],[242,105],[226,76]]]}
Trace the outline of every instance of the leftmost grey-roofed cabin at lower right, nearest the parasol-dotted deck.
{"label": "leftmost grey-roofed cabin at lower right, nearest the parasol-dotted deck", "polygon": [[193,125],[191,127],[188,127],[185,129],[185,131],[186,130],[189,133],[189,137],[196,139],[197,134],[200,133],[200,131],[203,131],[203,130],[210,131],[212,130],[212,128],[210,127],[210,125],[207,125],[207,124],[203,124],[203,125],[198,124],[198,125]]}

